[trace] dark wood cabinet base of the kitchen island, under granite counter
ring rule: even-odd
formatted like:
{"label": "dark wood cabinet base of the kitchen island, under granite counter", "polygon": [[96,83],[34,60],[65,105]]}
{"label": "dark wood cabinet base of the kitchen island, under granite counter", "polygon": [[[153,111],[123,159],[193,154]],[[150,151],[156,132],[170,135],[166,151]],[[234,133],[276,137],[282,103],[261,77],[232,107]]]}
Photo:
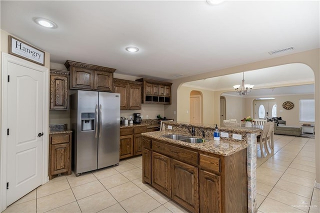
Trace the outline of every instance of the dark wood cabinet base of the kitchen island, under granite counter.
{"label": "dark wood cabinet base of the kitchen island, under granite counter", "polygon": [[246,149],[222,156],[146,136],[142,146],[142,181],[184,208],[247,211]]}

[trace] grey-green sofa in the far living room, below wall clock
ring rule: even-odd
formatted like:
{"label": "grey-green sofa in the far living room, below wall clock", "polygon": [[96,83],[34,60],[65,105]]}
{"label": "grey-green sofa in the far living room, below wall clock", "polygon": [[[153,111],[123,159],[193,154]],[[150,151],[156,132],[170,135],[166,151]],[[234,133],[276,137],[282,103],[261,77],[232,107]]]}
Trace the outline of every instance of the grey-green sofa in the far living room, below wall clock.
{"label": "grey-green sofa in the far living room, below wall clock", "polygon": [[300,136],[302,126],[289,126],[281,117],[268,118],[268,121],[274,121],[274,134],[285,134],[292,136]]}

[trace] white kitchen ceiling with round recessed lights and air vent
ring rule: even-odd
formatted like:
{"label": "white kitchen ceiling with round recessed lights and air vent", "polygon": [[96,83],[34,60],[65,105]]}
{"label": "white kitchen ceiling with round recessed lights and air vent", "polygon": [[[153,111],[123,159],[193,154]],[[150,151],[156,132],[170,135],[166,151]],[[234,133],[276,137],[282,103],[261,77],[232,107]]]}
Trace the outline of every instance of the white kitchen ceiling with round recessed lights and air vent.
{"label": "white kitchen ceiling with round recessed lights and air vent", "polygon": [[[273,58],[269,51],[290,46],[281,55],[319,48],[319,1],[1,0],[0,9],[1,29],[49,52],[51,62],[155,79]],[[35,16],[58,27],[43,28]],[[140,51],[125,51],[129,45]]]}

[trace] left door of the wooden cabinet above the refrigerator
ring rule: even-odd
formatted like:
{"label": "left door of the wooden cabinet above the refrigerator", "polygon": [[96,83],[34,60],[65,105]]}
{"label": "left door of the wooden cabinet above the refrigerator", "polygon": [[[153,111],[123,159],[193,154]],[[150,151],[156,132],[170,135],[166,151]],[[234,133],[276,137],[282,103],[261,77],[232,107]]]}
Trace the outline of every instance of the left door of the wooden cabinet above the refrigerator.
{"label": "left door of the wooden cabinet above the refrigerator", "polygon": [[70,71],[71,84],[70,88],[75,89],[93,89],[94,71],[73,66]]}

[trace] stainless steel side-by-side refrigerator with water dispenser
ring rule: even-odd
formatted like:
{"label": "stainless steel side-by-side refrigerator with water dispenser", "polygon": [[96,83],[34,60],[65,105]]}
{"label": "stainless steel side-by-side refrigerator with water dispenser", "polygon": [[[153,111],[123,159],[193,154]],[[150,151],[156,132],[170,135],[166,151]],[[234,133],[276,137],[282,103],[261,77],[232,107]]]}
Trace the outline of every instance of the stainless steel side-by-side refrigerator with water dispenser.
{"label": "stainless steel side-by-side refrigerator with water dispenser", "polygon": [[118,164],[120,94],[76,90],[70,101],[75,175]]}

